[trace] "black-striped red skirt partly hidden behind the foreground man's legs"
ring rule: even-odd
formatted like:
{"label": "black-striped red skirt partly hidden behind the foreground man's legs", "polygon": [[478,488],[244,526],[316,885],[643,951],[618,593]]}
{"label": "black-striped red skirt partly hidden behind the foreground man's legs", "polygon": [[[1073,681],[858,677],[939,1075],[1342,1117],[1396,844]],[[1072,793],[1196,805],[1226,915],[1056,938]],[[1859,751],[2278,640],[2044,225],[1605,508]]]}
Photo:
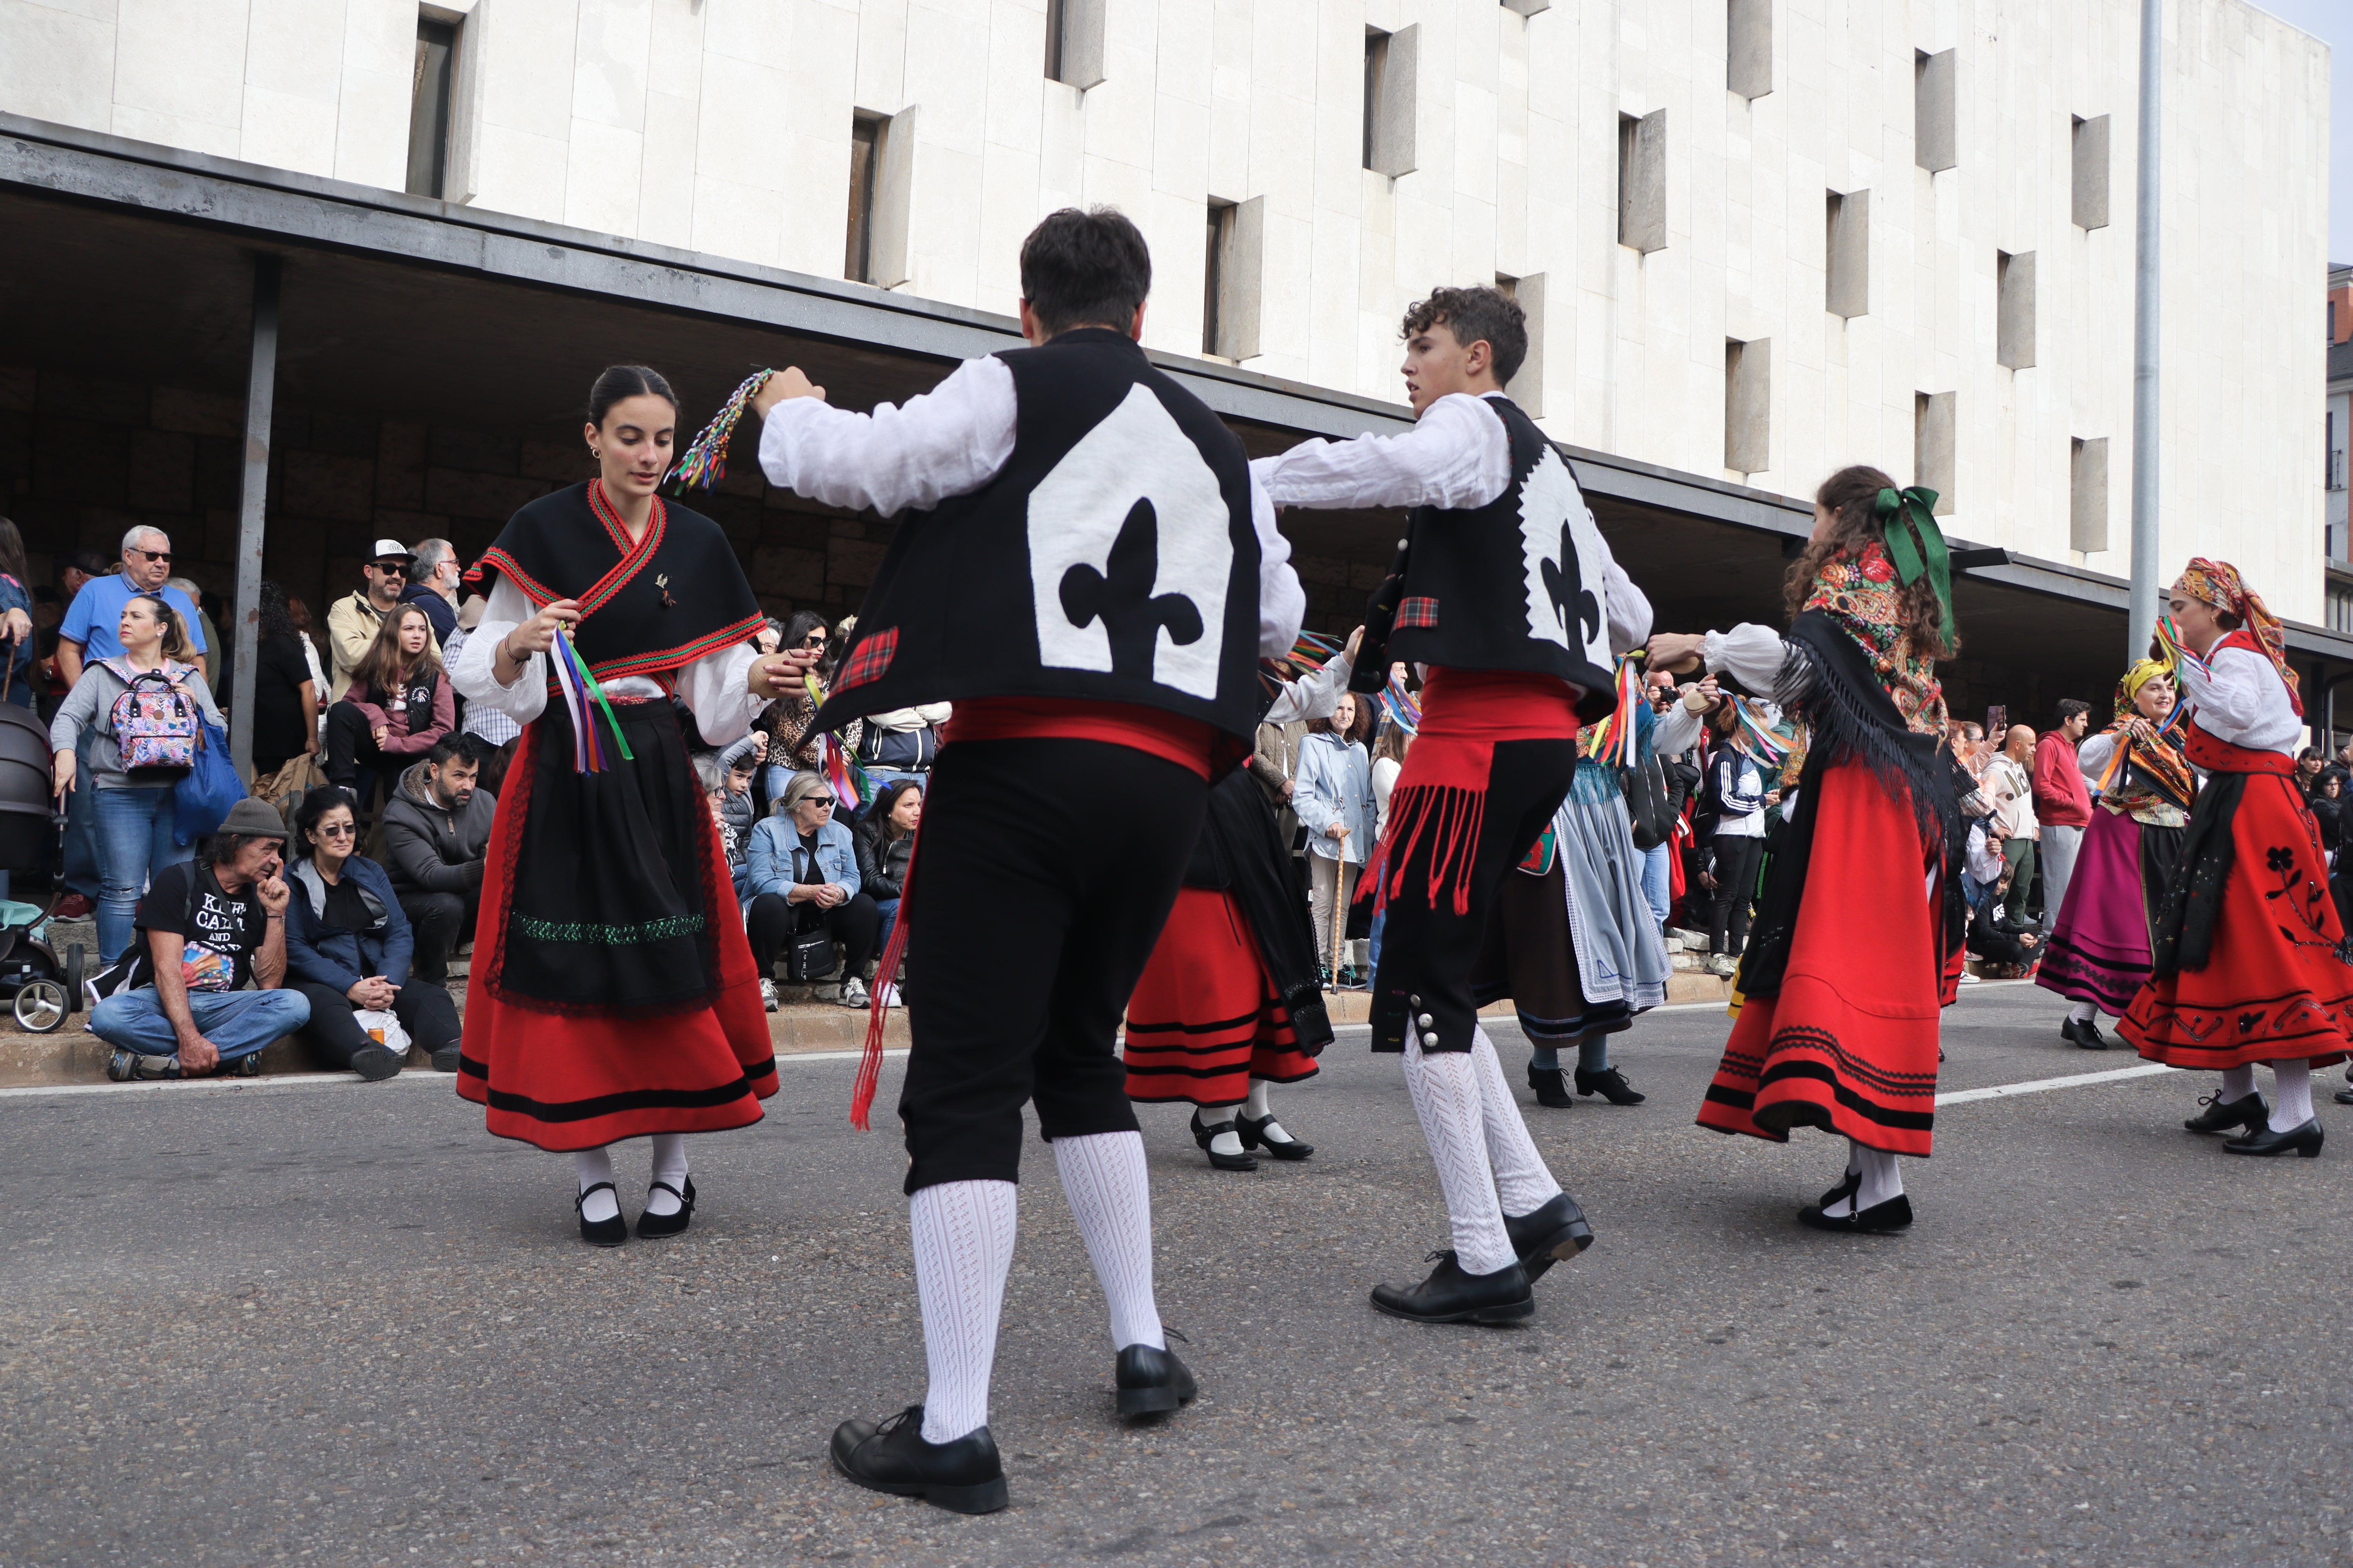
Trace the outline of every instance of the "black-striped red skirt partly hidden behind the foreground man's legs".
{"label": "black-striped red skirt partly hidden behind the foreground man's legs", "polygon": [[1249,922],[1219,889],[1179,889],[1127,1001],[1127,1098],[1233,1105],[1249,1079],[1315,1077],[1259,957]]}

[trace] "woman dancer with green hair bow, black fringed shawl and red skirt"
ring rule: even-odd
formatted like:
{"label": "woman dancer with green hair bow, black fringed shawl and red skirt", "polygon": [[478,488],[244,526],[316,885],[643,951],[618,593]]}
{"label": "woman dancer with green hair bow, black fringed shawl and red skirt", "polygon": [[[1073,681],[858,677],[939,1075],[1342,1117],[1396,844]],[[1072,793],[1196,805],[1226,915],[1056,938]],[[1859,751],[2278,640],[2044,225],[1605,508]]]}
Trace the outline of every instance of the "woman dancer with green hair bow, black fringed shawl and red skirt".
{"label": "woman dancer with green hair bow, black fringed shawl and red skirt", "polygon": [[[1699,1124],[1847,1140],[1847,1175],[1800,1211],[1819,1229],[1911,1225],[1899,1154],[1927,1157],[1937,1018],[1960,980],[1960,802],[1937,658],[1955,649],[1934,491],[1842,468],[1788,571],[1788,635],[1652,637],[1652,668],[1704,654],[1809,726],[1798,811],[1741,957],[1739,1023]],[[1920,877],[1920,882],[1913,882]],[[1918,886],[1920,893],[1908,893]]]}

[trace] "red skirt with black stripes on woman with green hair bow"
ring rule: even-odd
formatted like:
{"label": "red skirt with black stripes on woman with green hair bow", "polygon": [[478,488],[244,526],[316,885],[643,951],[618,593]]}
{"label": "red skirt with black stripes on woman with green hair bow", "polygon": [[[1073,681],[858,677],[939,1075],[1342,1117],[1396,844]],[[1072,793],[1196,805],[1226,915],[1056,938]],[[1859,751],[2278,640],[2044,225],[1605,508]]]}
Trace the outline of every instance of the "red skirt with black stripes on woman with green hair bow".
{"label": "red skirt with black stripes on woman with green hair bow", "polygon": [[1944,973],[1911,802],[1861,764],[1824,771],[1779,997],[1748,997],[1699,1126],[1786,1143],[1819,1126],[1927,1154]]}

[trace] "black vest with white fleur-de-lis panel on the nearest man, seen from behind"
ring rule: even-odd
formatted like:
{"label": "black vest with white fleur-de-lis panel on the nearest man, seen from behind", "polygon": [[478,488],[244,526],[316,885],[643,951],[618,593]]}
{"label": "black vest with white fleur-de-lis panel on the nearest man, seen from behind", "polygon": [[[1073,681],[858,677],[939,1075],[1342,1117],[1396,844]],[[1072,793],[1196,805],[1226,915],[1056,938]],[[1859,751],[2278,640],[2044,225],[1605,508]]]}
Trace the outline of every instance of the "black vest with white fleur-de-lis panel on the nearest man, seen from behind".
{"label": "black vest with white fleur-de-lis panel on the nearest man, seen from behind", "polygon": [[906,512],[816,729],[981,696],[1160,708],[1257,731],[1259,534],[1242,442],[1132,339],[1002,355],[995,480]]}

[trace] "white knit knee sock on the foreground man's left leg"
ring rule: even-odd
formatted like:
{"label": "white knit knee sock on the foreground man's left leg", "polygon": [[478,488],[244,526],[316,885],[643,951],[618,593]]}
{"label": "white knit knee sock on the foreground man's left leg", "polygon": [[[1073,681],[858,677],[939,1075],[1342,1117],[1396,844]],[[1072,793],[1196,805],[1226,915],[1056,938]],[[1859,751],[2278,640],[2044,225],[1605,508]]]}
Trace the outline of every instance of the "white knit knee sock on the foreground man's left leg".
{"label": "white knit knee sock on the foreground man's left leg", "polygon": [[953,1443],[988,1425],[988,1368],[998,1359],[1005,1272],[1014,1262],[1019,1187],[941,1182],[908,1199],[915,1295],[922,1298],[922,1439]]}

